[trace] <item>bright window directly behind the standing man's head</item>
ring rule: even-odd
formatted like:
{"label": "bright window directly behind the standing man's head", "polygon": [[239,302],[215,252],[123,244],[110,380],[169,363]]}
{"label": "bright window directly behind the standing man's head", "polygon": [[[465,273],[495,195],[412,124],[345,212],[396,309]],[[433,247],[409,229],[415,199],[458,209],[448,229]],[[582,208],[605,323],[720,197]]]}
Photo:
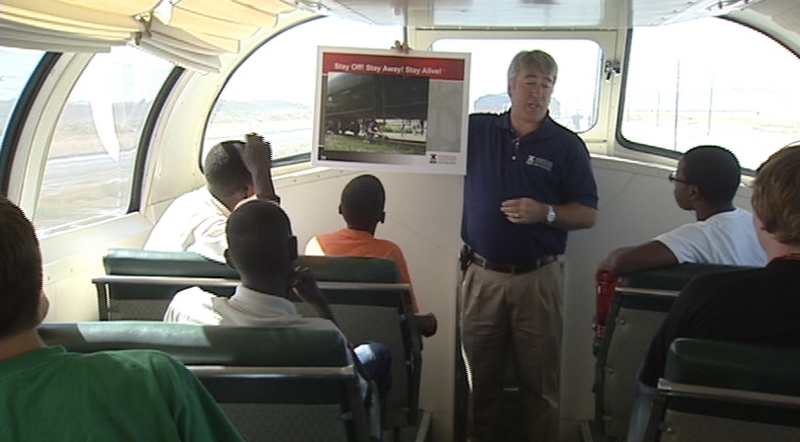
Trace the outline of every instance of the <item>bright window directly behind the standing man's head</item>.
{"label": "bright window directly behind the standing man's head", "polygon": [[560,124],[586,132],[597,121],[600,46],[590,40],[454,39],[434,42],[445,52],[469,52],[470,112],[503,112],[511,102],[507,93],[508,64],[522,50],[541,49],[558,63],[558,81],[550,102],[550,116]]}

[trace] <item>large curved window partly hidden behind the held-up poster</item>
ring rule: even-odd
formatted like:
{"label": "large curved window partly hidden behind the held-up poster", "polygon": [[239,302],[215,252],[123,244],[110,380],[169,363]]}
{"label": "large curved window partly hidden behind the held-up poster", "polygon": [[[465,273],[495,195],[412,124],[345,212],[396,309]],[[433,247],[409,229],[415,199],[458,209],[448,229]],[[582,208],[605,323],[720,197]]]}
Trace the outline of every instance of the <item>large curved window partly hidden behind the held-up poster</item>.
{"label": "large curved window partly hidden behind the held-up poster", "polygon": [[237,68],[217,98],[206,127],[203,158],[220,141],[258,132],[272,143],[276,163],[308,161],[317,47],[388,49],[402,35],[398,26],[326,17],[267,40]]}

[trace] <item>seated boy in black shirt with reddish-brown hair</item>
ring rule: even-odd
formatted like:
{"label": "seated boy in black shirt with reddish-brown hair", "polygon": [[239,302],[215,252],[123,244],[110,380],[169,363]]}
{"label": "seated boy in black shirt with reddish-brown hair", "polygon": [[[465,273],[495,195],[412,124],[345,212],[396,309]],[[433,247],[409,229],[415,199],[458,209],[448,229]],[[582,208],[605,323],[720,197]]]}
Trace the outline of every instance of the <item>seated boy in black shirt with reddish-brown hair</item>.
{"label": "seated boy in black shirt with reddish-brown hair", "polygon": [[772,154],[756,171],[751,202],[762,268],[699,275],[683,288],[650,343],[637,381],[628,441],[643,440],[667,353],[678,338],[800,348],[800,145]]}

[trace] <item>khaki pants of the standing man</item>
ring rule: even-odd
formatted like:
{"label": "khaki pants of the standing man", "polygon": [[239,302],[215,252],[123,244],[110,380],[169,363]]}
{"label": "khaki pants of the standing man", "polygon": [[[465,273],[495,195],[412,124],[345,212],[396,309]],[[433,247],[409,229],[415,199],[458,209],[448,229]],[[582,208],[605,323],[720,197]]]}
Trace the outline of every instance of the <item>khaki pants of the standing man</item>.
{"label": "khaki pants of the standing man", "polygon": [[512,275],[475,264],[464,273],[462,343],[470,384],[469,437],[497,442],[509,345],[530,442],[558,440],[563,262]]}

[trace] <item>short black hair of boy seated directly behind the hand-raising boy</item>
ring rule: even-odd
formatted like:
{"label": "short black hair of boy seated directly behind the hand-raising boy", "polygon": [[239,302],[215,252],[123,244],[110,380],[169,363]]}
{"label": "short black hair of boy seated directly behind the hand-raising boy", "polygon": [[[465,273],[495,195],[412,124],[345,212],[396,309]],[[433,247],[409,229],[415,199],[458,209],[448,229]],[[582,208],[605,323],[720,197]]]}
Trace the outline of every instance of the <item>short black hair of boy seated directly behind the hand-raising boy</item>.
{"label": "short black hair of boy seated directly behind the hand-raising boy", "polygon": [[292,226],[277,204],[266,200],[245,202],[228,217],[225,235],[228,258],[242,276],[293,266],[297,250],[288,249]]}

